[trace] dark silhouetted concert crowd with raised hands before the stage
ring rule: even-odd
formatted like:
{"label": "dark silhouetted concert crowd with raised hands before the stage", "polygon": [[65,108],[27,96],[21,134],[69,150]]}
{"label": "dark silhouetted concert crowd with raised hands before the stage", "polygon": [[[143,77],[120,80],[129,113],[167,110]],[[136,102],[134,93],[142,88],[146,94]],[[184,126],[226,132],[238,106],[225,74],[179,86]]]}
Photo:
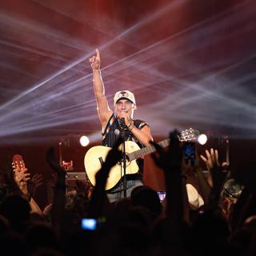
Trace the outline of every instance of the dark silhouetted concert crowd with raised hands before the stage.
{"label": "dark silhouetted concert crowd with raised hands before the stage", "polygon": [[[149,186],[136,187],[129,198],[110,203],[106,180],[120,158],[121,141],[110,150],[96,174],[96,184],[78,182],[66,193],[66,170],[46,155],[54,173],[53,199],[44,210],[34,202],[40,176],[2,164],[0,175],[0,250],[2,255],[254,255],[256,206],[254,187],[239,184],[232,166],[219,162],[218,151],[209,149],[194,164],[186,162],[184,143],[176,131],[170,146],[154,144],[154,162],[166,181],[166,198],[160,201]],[[232,163],[231,163],[232,164]],[[250,166],[253,170],[255,166]],[[188,184],[201,202],[191,203]],[[82,229],[84,218],[94,219],[94,230]]]}

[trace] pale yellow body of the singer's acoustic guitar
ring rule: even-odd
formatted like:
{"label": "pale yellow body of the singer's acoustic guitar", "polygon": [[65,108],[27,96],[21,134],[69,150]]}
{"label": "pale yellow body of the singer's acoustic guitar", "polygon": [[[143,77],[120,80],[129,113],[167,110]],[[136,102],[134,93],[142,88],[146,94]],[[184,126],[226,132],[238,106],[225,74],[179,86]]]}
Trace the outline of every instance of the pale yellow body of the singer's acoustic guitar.
{"label": "pale yellow body of the singer's acoustic guitar", "polygon": [[[126,154],[130,154],[136,150],[140,150],[140,147],[132,141],[125,142],[126,144]],[[95,186],[95,174],[101,169],[102,163],[106,160],[106,155],[111,150],[107,146],[94,146],[87,151],[84,158],[84,164],[86,167],[86,174],[89,178],[91,184]],[[122,145],[119,147],[122,150]],[[136,160],[128,161],[126,160],[126,174],[136,174],[138,172],[138,165]],[[106,190],[110,190],[115,185],[118,184],[119,180],[123,176],[123,163],[118,163],[110,170],[109,178],[106,182]]]}

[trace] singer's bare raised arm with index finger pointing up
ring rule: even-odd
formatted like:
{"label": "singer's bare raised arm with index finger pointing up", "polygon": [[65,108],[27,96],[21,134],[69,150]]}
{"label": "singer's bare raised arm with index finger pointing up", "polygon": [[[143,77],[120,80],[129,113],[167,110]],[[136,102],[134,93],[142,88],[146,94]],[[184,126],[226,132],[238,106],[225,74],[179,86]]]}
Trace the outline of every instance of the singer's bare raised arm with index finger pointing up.
{"label": "singer's bare raised arm with index finger pointing up", "polygon": [[102,127],[105,128],[106,123],[113,112],[110,110],[110,106],[105,95],[105,87],[100,70],[101,57],[98,49],[96,49],[96,55],[93,55],[89,61],[93,70],[94,95],[97,102],[98,117],[102,122]]}

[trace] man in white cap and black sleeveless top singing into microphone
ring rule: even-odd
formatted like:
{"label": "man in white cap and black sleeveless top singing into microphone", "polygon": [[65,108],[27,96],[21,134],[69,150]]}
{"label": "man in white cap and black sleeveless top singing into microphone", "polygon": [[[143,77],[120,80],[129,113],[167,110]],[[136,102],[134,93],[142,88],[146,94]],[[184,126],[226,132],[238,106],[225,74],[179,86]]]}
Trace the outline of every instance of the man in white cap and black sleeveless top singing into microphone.
{"label": "man in white cap and black sleeveless top singing into microphone", "polygon": [[[150,134],[150,126],[142,120],[133,118],[134,110],[136,110],[133,93],[129,90],[118,91],[114,95],[114,112],[110,110],[102,81],[100,64],[100,54],[96,50],[96,55],[90,58],[90,66],[93,70],[94,94],[98,106],[98,117],[102,123],[102,145],[112,147],[120,136],[124,136],[125,141],[136,142],[139,148],[149,146],[150,141],[153,140]],[[130,192],[134,187],[143,185],[143,160],[140,158],[136,161],[138,163],[138,171],[133,174],[127,174],[125,179],[120,175],[118,184],[107,190],[110,202],[124,198],[125,195],[130,197]]]}

